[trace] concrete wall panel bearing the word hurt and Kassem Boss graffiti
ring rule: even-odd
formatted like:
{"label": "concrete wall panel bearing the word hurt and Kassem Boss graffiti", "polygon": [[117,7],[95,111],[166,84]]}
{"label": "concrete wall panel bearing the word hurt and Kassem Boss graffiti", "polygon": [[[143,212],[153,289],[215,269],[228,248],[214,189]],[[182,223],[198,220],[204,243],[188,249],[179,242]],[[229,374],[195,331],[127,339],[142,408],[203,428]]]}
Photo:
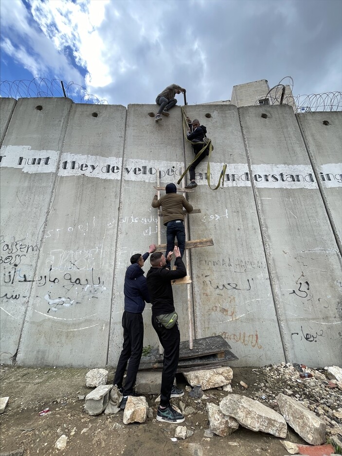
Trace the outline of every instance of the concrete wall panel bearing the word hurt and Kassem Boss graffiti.
{"label": "concrete wall panel bearing the word hurt and Kassem Boss graffiti", "polygon": [[[1,362],[16,357],[72,101],[22,98],[1,147]],[[42,106],[41,110],[36,106]],[[32,360],[30,360],[32,362]]]}

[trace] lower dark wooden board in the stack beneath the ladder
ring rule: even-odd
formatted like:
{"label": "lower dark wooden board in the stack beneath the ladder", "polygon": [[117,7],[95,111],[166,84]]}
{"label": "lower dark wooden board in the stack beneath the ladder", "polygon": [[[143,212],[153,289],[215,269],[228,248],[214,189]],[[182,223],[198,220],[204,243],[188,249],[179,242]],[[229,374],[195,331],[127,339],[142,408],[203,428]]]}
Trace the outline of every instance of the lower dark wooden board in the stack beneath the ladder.
{"label": "lower dark wooden board in the stack beneath the ladder", "polygon": [[[225,350],[223,359],[217,359],[215,355],[183,359],[178,363],[177,372],[190,372],[192,370],[214,369],[215,367],[228,366],[232,361],[237,359],[238,358],[230,350]],[[140,362],[139,370],[162,371],[162,361],[148,359],[148,356],[144,356]]]}

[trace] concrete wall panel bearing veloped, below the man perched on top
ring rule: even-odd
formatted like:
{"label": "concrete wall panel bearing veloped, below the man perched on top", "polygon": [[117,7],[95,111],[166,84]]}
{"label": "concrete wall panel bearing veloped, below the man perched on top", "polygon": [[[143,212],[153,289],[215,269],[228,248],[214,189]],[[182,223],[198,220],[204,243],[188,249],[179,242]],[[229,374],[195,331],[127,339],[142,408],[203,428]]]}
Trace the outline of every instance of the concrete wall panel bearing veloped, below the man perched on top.
{"label": "concrete wall panel bearing veloped, below the man perched on top", "polygon": [[[109,364],[116,365],[123,343],[121,318],[124,310],[124,279],[129,258],[145,253],[150,244],[158,243],[157,209],[151,202],[157,185],[157,169],[161,185],[177,182],[180,166],[184,165],[184,146],[179,107],[169,117],[155,122],[148,112],[151,105],[128,105],[123,179],[120,197],[120,217],[113,287],[113,312],[109,345]],[[161,191],[161,195],[164,191]],[[166,243],[166,227],[161,220],[161,242]],[[149,259],[144,265],[145,274]],[[175,308],[179,313],[181,340],[188,340],[187,285],[173,287]],[[144,316],[144,346],[157,347],[158,338],[151,326],[151,305],[146,304]]]}

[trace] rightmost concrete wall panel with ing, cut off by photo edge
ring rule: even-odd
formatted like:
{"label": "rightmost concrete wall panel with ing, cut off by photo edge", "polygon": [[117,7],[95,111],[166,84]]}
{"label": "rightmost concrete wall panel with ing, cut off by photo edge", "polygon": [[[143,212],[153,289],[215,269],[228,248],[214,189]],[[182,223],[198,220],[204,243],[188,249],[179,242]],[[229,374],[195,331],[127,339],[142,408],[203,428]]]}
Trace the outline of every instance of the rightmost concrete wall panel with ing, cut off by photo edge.
{"label": "rightmost concrete wall panel with ing, cut off by photo edge", "polygon": [[342,112],[308,112],[296,117],[341,251]]}

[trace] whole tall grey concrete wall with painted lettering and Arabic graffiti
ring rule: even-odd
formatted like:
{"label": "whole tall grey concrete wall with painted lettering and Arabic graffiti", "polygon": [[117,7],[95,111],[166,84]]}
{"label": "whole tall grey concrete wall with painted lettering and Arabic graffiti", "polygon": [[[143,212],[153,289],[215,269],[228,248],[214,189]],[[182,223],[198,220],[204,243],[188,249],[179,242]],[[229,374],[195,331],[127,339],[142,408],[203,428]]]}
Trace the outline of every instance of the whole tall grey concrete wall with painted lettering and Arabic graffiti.
{"label": "whole tall grey concrete wall with painted lettering and Arabic graffiti", "polygon": [[[192,159],[180,108],[156,123],[148,115],[156,105],[126,112],[31,98],[11,116],[15,102],[0,103],[1,118],[10,118],[1,124],[1,362],[115,365],[126,266],[157,243],[157,169],[161,184],[177,182]],[[214,240],[191,250],[196,337],[221,334],[239,357],[232,365],[341,365],[341,215],[330,192],[341,183],[316,182],[319,166],[339,173],[328,165],[338,163],[341,143],[335,116],[322,148],[321,113],[301,115],[302,135],[287,106],[186,111],[213,140],[212,183],[228,164],[223,188],[213,191],[205,159],[188,194],[201,209],[189,216],[190,238]],[[186,287],[173,289],[182,340]],[[144,346],[157,345],[150,316],[147,304]]]}

